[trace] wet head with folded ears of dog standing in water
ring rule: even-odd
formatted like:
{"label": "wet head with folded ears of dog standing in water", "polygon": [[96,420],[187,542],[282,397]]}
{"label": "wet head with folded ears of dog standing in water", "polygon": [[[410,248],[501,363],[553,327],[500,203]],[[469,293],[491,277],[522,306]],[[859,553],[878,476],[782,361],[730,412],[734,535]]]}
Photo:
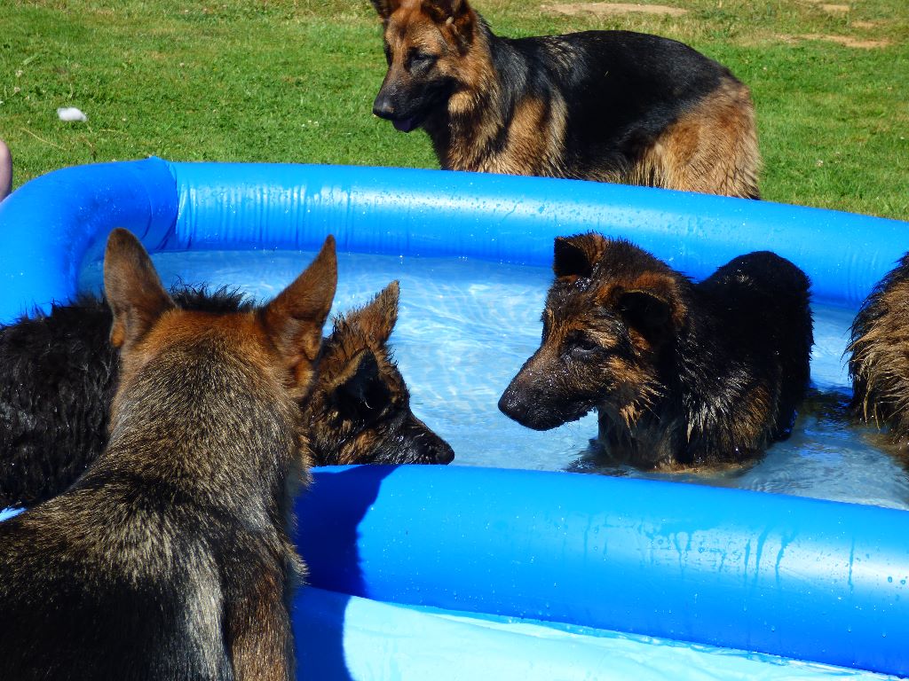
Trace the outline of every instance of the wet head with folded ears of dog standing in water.
{"label": "wet head with folded ears of dog standing in water", "polygon": [[682,327],[684,277],[622,240],[555,240],[555,281],[540,348],[499,400],[504,414],[546,430],[598,409],[627,426],[661,392],[660,363]]}

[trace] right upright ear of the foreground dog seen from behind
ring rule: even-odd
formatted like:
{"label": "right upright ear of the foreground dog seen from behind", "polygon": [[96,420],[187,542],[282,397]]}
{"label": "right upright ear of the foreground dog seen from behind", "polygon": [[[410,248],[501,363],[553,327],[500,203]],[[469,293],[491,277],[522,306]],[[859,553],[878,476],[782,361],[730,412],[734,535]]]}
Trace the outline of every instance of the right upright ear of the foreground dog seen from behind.
{"label": "right upright ear of the foreground dog seen from behind", "polygon": [[309,267],[259,312],[265,332],[290,368],[315,361],[336,286],[335,237],[329,235]]}

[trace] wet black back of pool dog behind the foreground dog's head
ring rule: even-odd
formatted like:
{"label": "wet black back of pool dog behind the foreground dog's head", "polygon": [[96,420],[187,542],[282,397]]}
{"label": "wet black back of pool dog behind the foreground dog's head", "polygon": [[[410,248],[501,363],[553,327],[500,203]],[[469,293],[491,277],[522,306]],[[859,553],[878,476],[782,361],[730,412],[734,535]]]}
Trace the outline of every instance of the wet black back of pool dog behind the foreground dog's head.
{"label": "wet black back of pool dog behind the foreground dog's head", "polygon": [[[184,289],[185,310],[249,311],[238,293]],[[107,303],[80,296],[0,328],[0,507],[55,497],[105,449],[117,353]]]}

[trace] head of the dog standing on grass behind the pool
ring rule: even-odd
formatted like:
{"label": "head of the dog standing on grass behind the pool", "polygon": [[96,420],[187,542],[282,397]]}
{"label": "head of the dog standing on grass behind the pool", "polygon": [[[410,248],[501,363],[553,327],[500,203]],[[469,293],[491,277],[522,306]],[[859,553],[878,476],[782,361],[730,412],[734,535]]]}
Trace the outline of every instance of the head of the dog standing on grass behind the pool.
{"label": "head of the dog standing on grass behind the pool", "polygon": [[482,21],[466,0],[373,0],[385,27],[388,72],[373,113],[409,133],[487,72],[470,54]]}

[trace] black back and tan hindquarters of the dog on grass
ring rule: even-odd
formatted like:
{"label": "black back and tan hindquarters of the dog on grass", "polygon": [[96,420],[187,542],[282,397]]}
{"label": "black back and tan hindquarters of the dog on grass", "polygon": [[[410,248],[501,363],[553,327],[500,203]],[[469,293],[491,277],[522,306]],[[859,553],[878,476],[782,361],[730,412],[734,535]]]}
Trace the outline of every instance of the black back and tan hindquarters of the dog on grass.
{"label": "black back and tan hindquarters of the dog on grass", "polygon": [[506,41],[564,104],[564,176],[757,198],[747,87],[686,44],[628,31]]}

